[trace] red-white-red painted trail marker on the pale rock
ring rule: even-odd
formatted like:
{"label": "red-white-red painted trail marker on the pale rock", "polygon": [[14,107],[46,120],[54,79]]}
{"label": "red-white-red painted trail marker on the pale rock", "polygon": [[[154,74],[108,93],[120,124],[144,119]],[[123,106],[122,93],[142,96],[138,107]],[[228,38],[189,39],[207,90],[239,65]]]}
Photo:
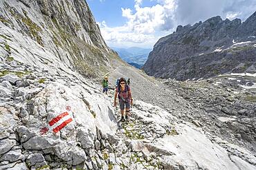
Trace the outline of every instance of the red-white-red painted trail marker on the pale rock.
{"label": "red-white-red painted trail marker on the pale rock", "polygon": [[65,111],[64,113],[60,114],[59,116],[53,118],[48,123],[48,127],[44,127],[42,129],[40,129],[40,134],[44,135],[48,131],[53,131],[53,133],[57,133],[58,131],[60,131],[61,129],[66,127],[66,125],[68,125],[68,123],[71,123],[72,121],[73,121],[73,119],[71,118],[70,114],[68,114],[68,111]]}

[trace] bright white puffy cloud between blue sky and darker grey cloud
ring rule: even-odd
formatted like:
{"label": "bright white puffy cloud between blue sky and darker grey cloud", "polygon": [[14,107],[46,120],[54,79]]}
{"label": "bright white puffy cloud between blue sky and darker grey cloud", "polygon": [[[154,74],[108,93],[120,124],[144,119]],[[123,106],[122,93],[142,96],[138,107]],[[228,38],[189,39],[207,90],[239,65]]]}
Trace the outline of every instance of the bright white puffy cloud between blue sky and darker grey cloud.
{"label": "bright white puffy cloud between blue sky and darker grey cloud", "polygon": [[174,0],[163,1],[152,7],[141,8],[143,0],[134,0],[134,9],[122,8],[122,17],[127,18],[125,25],[110,28],[104,21],[98,23],[105,41],[109,45],[152,47],[165,32],[173,28],[172,14]]}

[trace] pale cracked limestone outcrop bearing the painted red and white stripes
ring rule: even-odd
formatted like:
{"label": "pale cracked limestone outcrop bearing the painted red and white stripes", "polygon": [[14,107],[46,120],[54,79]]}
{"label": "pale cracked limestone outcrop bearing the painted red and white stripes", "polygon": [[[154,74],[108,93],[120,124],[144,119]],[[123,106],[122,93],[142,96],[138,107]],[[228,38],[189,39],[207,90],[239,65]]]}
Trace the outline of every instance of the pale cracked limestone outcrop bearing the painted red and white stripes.
{"label": "pale cracked limestone outcrop bearing the painted red and white stripes", "polygon": [[[24,72],[21,84],[33,79],[26,87],[9,78],[17,68]],[[55,76],[18,62],[17,68],[0,77],[0,88],[10,90],[10,96],[0,99],[0,169],[24,169],[23,162],[26,169],[70,168],[111,147],[107,136],[117,138],[116,118],[97,85],[72,71]]]}

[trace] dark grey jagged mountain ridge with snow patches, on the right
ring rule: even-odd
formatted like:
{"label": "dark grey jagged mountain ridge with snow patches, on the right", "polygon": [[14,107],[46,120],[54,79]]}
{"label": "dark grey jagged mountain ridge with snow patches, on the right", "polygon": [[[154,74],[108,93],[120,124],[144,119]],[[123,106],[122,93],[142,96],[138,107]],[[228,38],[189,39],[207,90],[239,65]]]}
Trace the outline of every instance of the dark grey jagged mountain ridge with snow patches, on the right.
{"label": "dark grey jagged mountain ridge with snow patches, on the right", "polygon": [[158,40],[143,70],[150,76],[179,81],[230,72],[256,72],[256,12],[246,21],[212,17],[179,25]]}

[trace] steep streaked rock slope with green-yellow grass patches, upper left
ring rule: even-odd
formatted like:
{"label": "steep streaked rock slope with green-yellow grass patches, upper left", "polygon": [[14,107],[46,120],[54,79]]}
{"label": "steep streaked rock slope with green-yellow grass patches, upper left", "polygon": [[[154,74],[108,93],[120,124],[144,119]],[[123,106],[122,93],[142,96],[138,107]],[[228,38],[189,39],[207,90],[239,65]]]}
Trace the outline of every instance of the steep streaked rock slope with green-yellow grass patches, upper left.
{"label": "steep streaked rock slope with green-yellow grass patches, upper left", "polygon": [[[89,77],[111,70],[111,60],[119,60],[104,43],[86,1],[1,1],[0,12],[1,47],[8,47],[1,56],[35,64],[43,50],[42,65],[62,61]],[[22,54],[20,46],[30,53]]]}

